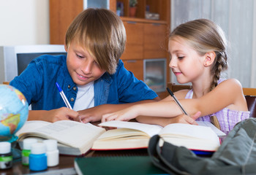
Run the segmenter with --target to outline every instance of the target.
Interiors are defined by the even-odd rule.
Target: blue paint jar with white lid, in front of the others
[[[31,145],[29,169],[31,171],[42,171],[47,169],[46,145],[44,143],[35,143]]]

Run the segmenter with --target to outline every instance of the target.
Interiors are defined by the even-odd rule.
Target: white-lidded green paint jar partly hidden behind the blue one
[[[23,140],[23,149],[21,152],[23,166],[29,166],[29,155],[31,152],[31,145],[34,143],[37,143],[37,139],[29,138]]]

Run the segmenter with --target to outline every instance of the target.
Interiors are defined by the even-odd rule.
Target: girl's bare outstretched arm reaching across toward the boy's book
[[[179,101],[189,115],[200,111],[200,116],[204,116],[218,112],[225,107],[240,111],[248,110],[241,84],[236,79],[225,80],[201,98],[180,99]],[[105,114],[102,117],[102,122],[108,120],[130,120],[139,115],[176,117],[181,114],[181,109],[174,101],[163,100],[155,103],[138,104],[119,112]]]

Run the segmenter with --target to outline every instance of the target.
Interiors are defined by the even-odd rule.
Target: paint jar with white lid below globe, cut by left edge
[[[0,142],[0,169],[12,168],[11,144],[8,141]]]

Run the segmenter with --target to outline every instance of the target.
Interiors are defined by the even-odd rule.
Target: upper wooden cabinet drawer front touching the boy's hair
[[[124,21],[127,44],[122,60],[143,59],[143,23]]]

